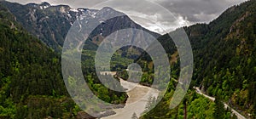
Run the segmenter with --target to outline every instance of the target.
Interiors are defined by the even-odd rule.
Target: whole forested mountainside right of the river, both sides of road
[[[183,118],[187,111],[188,118],[231,118],[229,111],[218,111],[220,107],[193,93],[193,87],[200,87],[203,93],[218,97],[233,109],[247,118],[256,117],[256,1],[250,0],[228,8],[216,20],[209,24],[196,24],[183,27],[189,36],[194,54],[194,74],[190,90],[183,103],[176,109],[168,109],[170,99],[179,76],[179,60],[177,48],[171,37],[164,35],[158,40],[166,49],[172,63],[173,81],[169,84],[169,92],[154,110],[143,118]],[[175,31],[173,31],[175,32]],[[172,34],[172,32],[171,32]],[[174,61],[173,61],[174,59]],[[137,59],[143,67],[142,84],[148,85],[154,77],[152,61],[148,54]],[[191,96],[193,95],[193,96]],[[199,105],[200,104],[200,105]],[[219,104],[219,103],[218,103]],[[201,110],[196,108],[201,106]],[[185,109],[186,107],[186,109]],[[204,111],[203,111],[204,110]],[[222,114],[217,114],[223,112]]]

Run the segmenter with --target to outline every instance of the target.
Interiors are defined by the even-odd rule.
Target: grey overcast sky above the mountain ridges
[[[181,26],[208,23],[226,8],[246,0],[7,0],[15,3],[67,4],[72,8],[108,6],[128,14],[151,31],[164,34]]]

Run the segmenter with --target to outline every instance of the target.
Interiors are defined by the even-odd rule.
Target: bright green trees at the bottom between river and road
[[[185,106],[187,106],[187,118],[206,118],[206,119],[219,119],[219,118],[235,118],[231,116],[229,110],[224,109],[224,104],[221,101],[213,102],[210,99],[205,98],[200,94],[196,94],[195,91],[190,91],[187,94],[186,98],[183,99],[183,104],[178,105],[175,109],[169,109],[170,99],[169,95],[166,94],[165,98],[160,101],[160,104],[149,111],[147,114],[144,114],[141,118],[184,118]],[[167,99],[166,99],[167,98]]]

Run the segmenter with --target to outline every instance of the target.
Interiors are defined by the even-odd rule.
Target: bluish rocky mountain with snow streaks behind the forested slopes
[[[102,8],[100,10],[89,8],[70,8],[67,5],[51,6],[49,3],[19,3],[1,2],[3,6],[15,15],[16,19],[27,31],[37,36],[50,48],[60,51],[67,32],[76,20],[79,20],[81,29],[87,27],[87,22],[97,22],[100,24],[90,35],[90,39],[102,39],[114,31],[124,28],[137,28],[147,31],[154,37],[159,34],[148,31],[142,26],[132,21],[127,15],[120,13],[113,8]],[[112,16],[119,15],[111,20]],[[105,21],[108,20],[108,21]],[[90,42],[94,48],[98,45]]]

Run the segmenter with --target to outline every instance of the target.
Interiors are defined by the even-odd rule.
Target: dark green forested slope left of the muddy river
[[[2,4],[0,32],[1,119],[94,118],[81,111],[67,93],[61,76],[61,55],[26,31]],[[86,74],[91,90],[100,99],[125,103],[125,93],[105,88],[90,71]],[[110,114],[113,112],[101,113]]]

